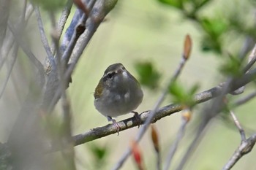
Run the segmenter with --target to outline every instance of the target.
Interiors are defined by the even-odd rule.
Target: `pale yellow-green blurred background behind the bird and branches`
[[[192,7],[188,5],[186,8],[189,10]],[[248,18],[253,18],[254,16],[253,9],[254,7],[249,3],[249,0],[215,0],[200,10],[198,15],[223,19],[231,16],[230,18],[237,22],[244,21],[244,28],[246,28],[247,25],[251,26],[254,23],[253,20],[248,20]],[[72,8],[73,12],[75,12],[75,7]],[[44,18],[44,22],[45,26],[50,28],[50,21],[47,18]],[[206,39],[204,39],[202,28],[195,21],[184,17],[180,10],[161,4],[157,0],[119,0],[105,22],[97,29],[89,46],[84,50],[75,73],[72,75],[72,84],[69,85],[67,91],[72,106],[73,134],[81,134],[91,128],[108,124],[106,117],[102,116],[94,108],[93,93],[103,72],[112,63],[123,63],[127,70],[137,78],[139,78],[139,75],[135,69],[136,64],[144,62],[153,64],[154,69],[161,74],[159,88],[151,90],[143,86],[143,103],[136,111],[143,112],[152,109],[162,92],[162,88],[165,87],[178,67],[183,50],[184,37],[187,34],[192,37],[192,55],[181,76],[178,77],[178,82],[187,89],[198,84],[200,85],[198,92],[200,92],[225,81],[225,77],[219,71],[220,66],[225,64],[225,54],[235,55],[239,53],[246,35],[238,34],[238,30],[233,31],[231,22],[223,21],[223,23],[227,26],[227,31],[218,40],[224,50],[221,53],[216,50],[203,52],[202,44],[206,42]],[[221,27],[222,23],[219,25]],[[31,23],[29,28],[33,30],[35,27],[37,27],[37,23],[34,20],[34,23]],[[50,34],[49,30],[47,32]],[[38,32],[34,34],[34,38],[39,39]],[[38,40],[37,43],[36,47],[34,47],[34,53],[40,56],[40,61],[43,62],[45,52],[40,46],[41,42]],[[203,45],[206,46],[206,44]],[[23,61],[23,56],[18,59],[18,62],[24,63],[24,67],[21,70],[25,70],[24,72],[26,73],[29,72],[29,69],[26,68],[28,64]],[[16,69],[16,72],[20,72],[20,69]],[[246,96],[254,88],[253,85],[247,85],[246,91],[241,96],[233,96],[232,100]],[[24,93],[23,96],[26,96],[26,90],[22,92]],[[7,88],[5,93],[9,94],[9,97],[5,98],[5,101],[1,101],[0,104],[1,108],[9,110],[8,112],[1,112],[1,116],[9,112],[18,112],[18,107],[10,109],[10,105],[9,107],[6,105],[10,103],[16,105],[14,103],[15,100],[12,100],[12,87]],[[23,96],[20,97],[22,98]],[[168,96],[162,106],[171,103],[172,99]],[[193,110],[192,120],[187,126],[187,132],[178,147],[170,169],[175,169],[178,166],[184,152],[187,151],[188,145],[194,139],[195,129],[200,122],[200,117],[202,117],[201,110],[207,104],[209,102],[199,104]],[[247,135],[252,133],[251,130],[255,131],[255,110],[255,100],[234,109],[238,120],[246,129]],[[61,104],[57,105],[55,113],[56,115],[61,115]],[[116,120],[123,120],[132,116],[132,114],[128,114],[117,117]],[[14,117],[11,117],[8,121],[0,119],[0,127],[3,129],[0,131],[0,141],[7,139],[8,131],[10,131],[10,127],[12,127],[12,123],[15,120]],[[176,113],[170,117],[165,117],[157,121],[155,125],[159,132],[162,161],[165,162],[167,151],[176,138],[176,133],[181,125],[181,115]],[[127,131],[121,131],[119,136],[113,134],[75,147],[78,169],[111,169],[124,153],[124,150],[129,147],[131,140],[138,134],[138,131],[138,128],[132,128]],[[185,166],[185,169],[222,169],[222,166],[227,163],[240,142],[240,134],[233,123],[226,123],[222,118],[217,117],[209,125],[202,142],[200,142],[197,150],[193,152],[192,158]],[[147,132],[144,136],[140,142],[140,147],[143,152],[146,169],[155,169],[156,155],[151,144],[150,133]],[[252,150],[244,158],[241,158],[233,169],[254,170],[256,167],[255,156],[256,151]],[[122,169],[136,169],[132,158],[129,158]]]

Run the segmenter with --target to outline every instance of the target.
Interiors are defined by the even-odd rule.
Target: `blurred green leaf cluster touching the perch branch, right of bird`
[[[195,105],[194,95],[199,89],[199,85],[193,85],[192,88],[184,88],[181,83],[173,82],[169,87],[169,93],[173,97],[173,102],[183,104],[186,107]]]

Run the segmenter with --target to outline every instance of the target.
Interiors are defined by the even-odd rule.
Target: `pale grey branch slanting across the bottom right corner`
[[[251,152],[252,148],[254,147],[256,142],[256,134],[253,134],[245,141],[242,141],[240,146],[236,149],[230,160],[227,164],[223,167],[222,170],[231,169],[244,155],[248,152]]]

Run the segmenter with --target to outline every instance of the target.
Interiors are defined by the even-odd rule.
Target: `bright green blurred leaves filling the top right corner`
[[[216,5],[214,5],[213,0],[158,1],[168,7],[178,9],[185,18],[194,21],[196,26],[200,28],[202,34],[201,49],[203,51],[223,54],[227,49],[227,47],[225,47],[226,40],[230,41],[227,36],[233,32],[240,34],[240,36],[251,36],[253,39],[256,39],[254,31],[255,23],[253,23],[254,18],[252,18],[252,15],[248,18],[244,12],[247,10],[246,8],[253,7],[252,5],[255,4],[254,1],[246,1],[248,2],[246,7],[239,6],[239,4],[237,4],[238,1],[235,1],[233,4],[230,4],[230,7],[223,8],[225,11],[219,12],[218,8],[213,17],[203,15],[203,12],[206,10],[214,10]],[[233,36],[232,40],[236,39],[237,36]],[[233,42],[232,40],[227,42],[227,46]],[[232,53],[234,53],[234,51],[232,51]]]

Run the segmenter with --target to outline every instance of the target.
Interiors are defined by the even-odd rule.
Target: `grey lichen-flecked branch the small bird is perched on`
[[[227,90],[226,93],[230,93],[230,91],[236,90],[237,88],[240,88],[241,86],[246,85],[247,83],[255,79],[255,77],[256,77],[256,69],[252,70],[248,74],[245,74],[239,80],[235,80],[233,85],[230,87],[229,90]],[[215,98],[222,93],[222,90],[223,90],[222,86],[217,86],[209,90],[203,91],[202,93],[197,93],[197,95],[195,95],[195,103],[200,104],[200,103],[203,103],[204,101],[208,101],[212,98]],[[162,107],[157,110],[157,113],[156,115],[154,115],[153,119],[151,120],[151,123],[155,123],[157,122],[157,120],[160,120],[163,117],[173,115],[174,113],[181,111],[181,109],[183,109],[183,106],[181,104],[170,104],[165,107]],[[150,111],[141,113],[140,114],[141,123],[135,117],[131,117],[126,120],[122,120],[118,122],[120,131],[124,131],[128,128],[142,125],[149,115],[150,115]],[[76,146],[76,145],[90,142],[95,139],[99,139],[115,133],[116,133],[115,125],[108,124],[102,127],[92,128],[91,130],[83,134],[75,135],[73,136],[73,141]],[[59,148],[51,148],[51,150],[59,150]]]

